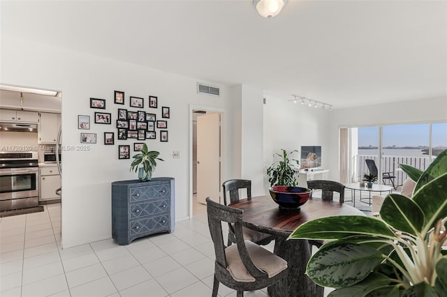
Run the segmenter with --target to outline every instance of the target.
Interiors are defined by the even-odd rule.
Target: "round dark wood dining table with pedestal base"
[[[244,211],[242,224],[245,227],[274,235],[274,254],[287,261],[287,287],[280,287],[279,283],[268,287],[269,295],[274,297],[323,296],[323,289],[305,275],[307,261],[311,257],[309,241],[288,240],[288,236],[297,227],[310,220],[332,215],[365,215],[357,208],[339,201],[323,201],[316,198],[309,199],[298,210],[279,208],[270,195],[240,199],[230,203],[229,206]]]

